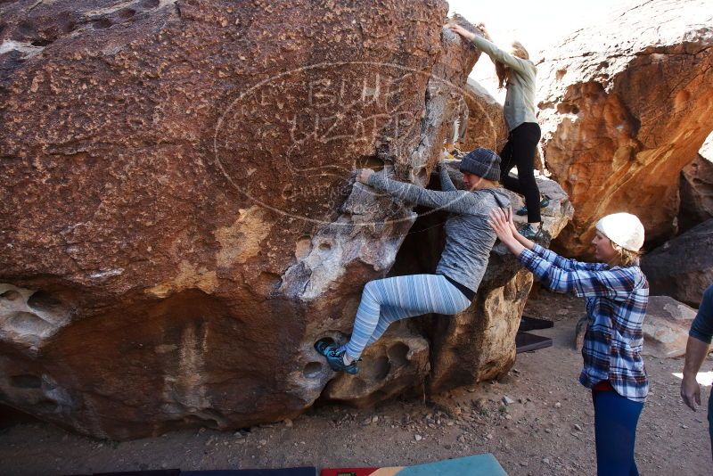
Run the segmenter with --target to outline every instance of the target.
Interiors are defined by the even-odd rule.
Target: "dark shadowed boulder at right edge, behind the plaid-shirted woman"
[[[643,274],[652,294],[670,296],[698,308],[713,283],[713,219],[643,256]]]

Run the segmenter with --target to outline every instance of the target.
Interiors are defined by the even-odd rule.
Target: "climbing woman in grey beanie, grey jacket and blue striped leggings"
[[[463,157],[460,170],[467,191],[455,188],[442,164],[438,164],[441,191],[390,180],[370,168],[358,172],[356,180],[362,184],[410,203],[450,212],[444,226],[446,247],[435,275],[396,276],[366,283],[350,341],[340,347],[326,339],[315,344],[333,370],[356,373],[362,351],[394,321],[428,313],[454,315],[471,304],[496,242],[488,214],[510,200],[497,182],[500,157],[496,152],[475,149]]]

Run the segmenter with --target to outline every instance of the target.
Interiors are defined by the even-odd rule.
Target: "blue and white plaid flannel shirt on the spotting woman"
[[[579,382],[591,389],[609,380],[622,397],[643,402],[649,392],[641,357],[649,283],[641,268],[564,259],[537,244],[520,253],[520,263],[547,289],[586,298],[589,325]]]

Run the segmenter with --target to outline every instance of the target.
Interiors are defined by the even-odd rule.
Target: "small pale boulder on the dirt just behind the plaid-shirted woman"
[[[681,357],[685,355],[688,330],[696,310],[668,296],[651,296],[643,319],[643,355]]]

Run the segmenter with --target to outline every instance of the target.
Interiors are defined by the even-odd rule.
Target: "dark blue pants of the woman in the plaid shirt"
[[[598,476],[638,476],[634,461],[636,423],[643,402],[613,390],[592,390]]]

